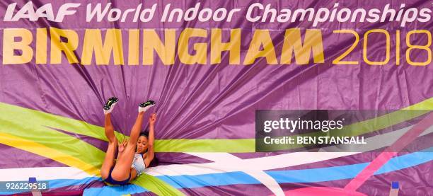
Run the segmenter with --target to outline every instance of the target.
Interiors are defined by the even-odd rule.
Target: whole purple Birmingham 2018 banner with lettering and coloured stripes
[[[433,190],[431,124],[408,153],[374,161],[433,110],[429,1],[2,1],[0,20],[0,181],[35,177],[54,195]],[[139,103],[158,115],[159,163],[122,188],[100,182],[112,96],[118,138]],[[347,122],[387,139],[256,153],[256,110],[389,111]]]

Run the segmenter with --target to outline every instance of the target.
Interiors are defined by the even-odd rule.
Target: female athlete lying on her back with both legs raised
[[[112,185],[125,185],[138,175],[143,173],[144,168],[154,159],[154,124],[156,114],[149,117],[149,134],[140,134],[144,112],[155,105],[153,100],[139,104],[139,113],[134,126],[131,129],[129,140],[117,142],[114,127],[111,124],[110,113],[118,99],[109,98],[104,106],[105,114],[105,136],[108,138],[108,149],[105,159],[100,168],[100,175],[106,183]],[[115,161],[116,149],[117,161]]]

